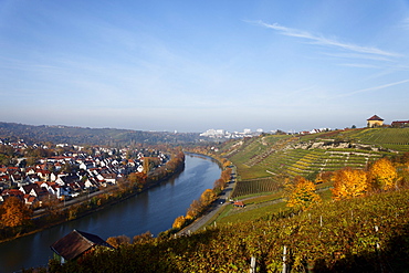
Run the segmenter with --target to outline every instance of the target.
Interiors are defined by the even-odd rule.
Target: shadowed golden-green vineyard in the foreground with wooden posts
[[[96,251],[48,272],[405,272],[409,190]],[[44,270],[45,272],[45,270]]]

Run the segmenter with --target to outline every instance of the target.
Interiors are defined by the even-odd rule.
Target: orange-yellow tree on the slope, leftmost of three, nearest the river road
[[[322,202],[321,197],[315,193],[315,185],[303,177],[296,177],[293,183],[287,182],[286,187],[289,191],[287,207],[306,210]]]

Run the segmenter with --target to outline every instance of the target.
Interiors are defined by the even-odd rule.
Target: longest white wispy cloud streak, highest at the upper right
[[[247,22],[275,30],[282,35],[308,40],[314,44],[331,46],[331,48],[349,51],[354,53],[364,53],[364,54],[373,54],[373,55],[380,55],[380,56],[399,56],[399,54],[394,53],[394,52],[384,51],[377,48],[361,46],[361,45],[357,45],[353,43],[344,43],[335,39],[328,39],[323,35],[316,35],[316,34],[310,33],[307,31],[287,28],[279,23],[269,24],[263,21],[247,21]]]

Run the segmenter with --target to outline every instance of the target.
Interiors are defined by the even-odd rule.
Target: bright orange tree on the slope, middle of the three
[[[369,189],[365,170],[343,168],[334,175],[334,188],[331,189],[336,200],[363,196]]]

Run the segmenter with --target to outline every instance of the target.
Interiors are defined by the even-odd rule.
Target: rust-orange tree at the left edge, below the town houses
[[[1,206],[1,223],[4,227],[15,228],[30,222],[32,210],[17,197],[9,197]]]

